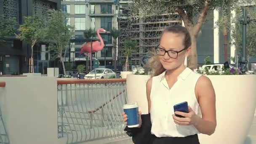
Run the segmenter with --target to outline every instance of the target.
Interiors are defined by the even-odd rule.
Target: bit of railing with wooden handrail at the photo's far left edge
[[[0,82],[0,88],[5,87],[5,82]],[[9,144],[9,136],[6,131],[5,123],[3,121],[3,112],[0,105],[0,144]]]

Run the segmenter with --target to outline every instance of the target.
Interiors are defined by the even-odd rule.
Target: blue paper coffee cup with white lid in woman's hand
[[[128,128],[135,128],[139,126],[139,107],[135,104],[125,104],[123,111],[128,117],[127,126]]]

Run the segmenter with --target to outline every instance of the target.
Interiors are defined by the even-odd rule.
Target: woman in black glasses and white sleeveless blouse
[[[153,75],[147,82],[152,144],[199,144],[197,133],[211,135],[216,128],[215,92],[208,77],[184,65],[191,51],[188,30],[166,27],[155,51],[157,55],[149,61]],[[173,105],[184,101],[189,113],[174,113]],[[127,118],[123,113],[125,123]],[[143,123],[140,119],[139,128]]]

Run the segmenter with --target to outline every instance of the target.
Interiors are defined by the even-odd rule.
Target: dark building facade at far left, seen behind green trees
[[[22,24],[24,16],[43,14],[48,9],[59,9],[60,6],[60,0],[0,0],[0,14],[15,17]],[[49,61],[45,45],[38,44],[34,51],[35,72],[46,74]],[[14,35],[8,37],[7,42],[0,45],[0,72],[6,75],[27,73],[30,56],[29,44],[16,39]]]

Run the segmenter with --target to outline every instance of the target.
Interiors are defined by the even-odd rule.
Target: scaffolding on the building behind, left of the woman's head
[[[127,10],[123,10],[123,12]],[[181,25],[182,20],[178,13],[161,14],[144,19],[128,19],[127,13],[120,13],[118,18],[121,35],[119,37],[119,64],[125,61],[123,43],[127,39],[136,40],[138,46],[132,53],[130,64],[140,65],[143,56],[153,51],[159,43],[163,29],[171,25]]]

